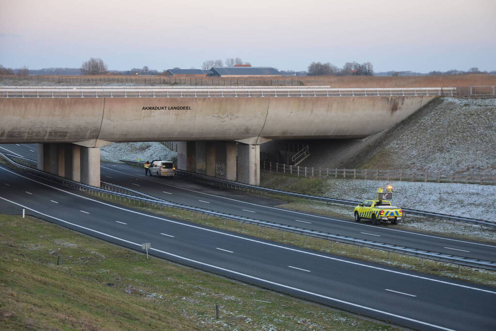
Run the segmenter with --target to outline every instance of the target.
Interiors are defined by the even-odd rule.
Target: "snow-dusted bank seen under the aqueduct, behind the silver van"
[[[103,162],[118,163],[119,160],[166,160],[177,159],[173,152],[158,142],[114,143],[101,148],[100,158]]]

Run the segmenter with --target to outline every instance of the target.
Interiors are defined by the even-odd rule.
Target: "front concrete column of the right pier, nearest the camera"
[[[260,185],[260,145],[238,144],[238,181]]]

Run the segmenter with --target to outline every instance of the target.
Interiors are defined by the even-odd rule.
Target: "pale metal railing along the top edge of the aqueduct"
[[[0,89],[0,98],[238,98],[454,96],[456,88]]]

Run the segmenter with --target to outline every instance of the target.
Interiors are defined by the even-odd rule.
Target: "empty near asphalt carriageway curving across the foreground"
[[[494,330],[494,288],[323,254],[83,196],[0,165],[0,208],[216,274],[421,330]],[[270,309],[270,307],[267,307]]]

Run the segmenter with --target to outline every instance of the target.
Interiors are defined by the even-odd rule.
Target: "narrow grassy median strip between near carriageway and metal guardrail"
[[[98,197],[98,195],[96,195]],[[232,232],[242,233],[257,238],[272,240],[293,246],[317,250],[324,253],[345,256],[358,260],[379,263],[387,266],[398,267],[405,270],[431,274],[436,276],[445,276],[453,279],[466,280],[474,283],[496,286],[496,272],[461,267],[458,273],[458,266],[407,256],[397,253],[390,253],[344,243],[330,243],[328,240],[307,237],[305,235],[290,233],[270,228],[263,228],[257,225],[244,224],[237,221],[224,220],[214,217],[204,216],[202,214],[193,214],[191,212],[177,210],[173,208],[159,209],[156,206],[145,205],[134,202],[119,201],[119,198],[110,198],[107,196],[99,199],[111,201],[129,208],[139,209],[149,213],[154,213],[169,218],[176,218],[184,221],[190,221],[206,226],[224,229]]]

